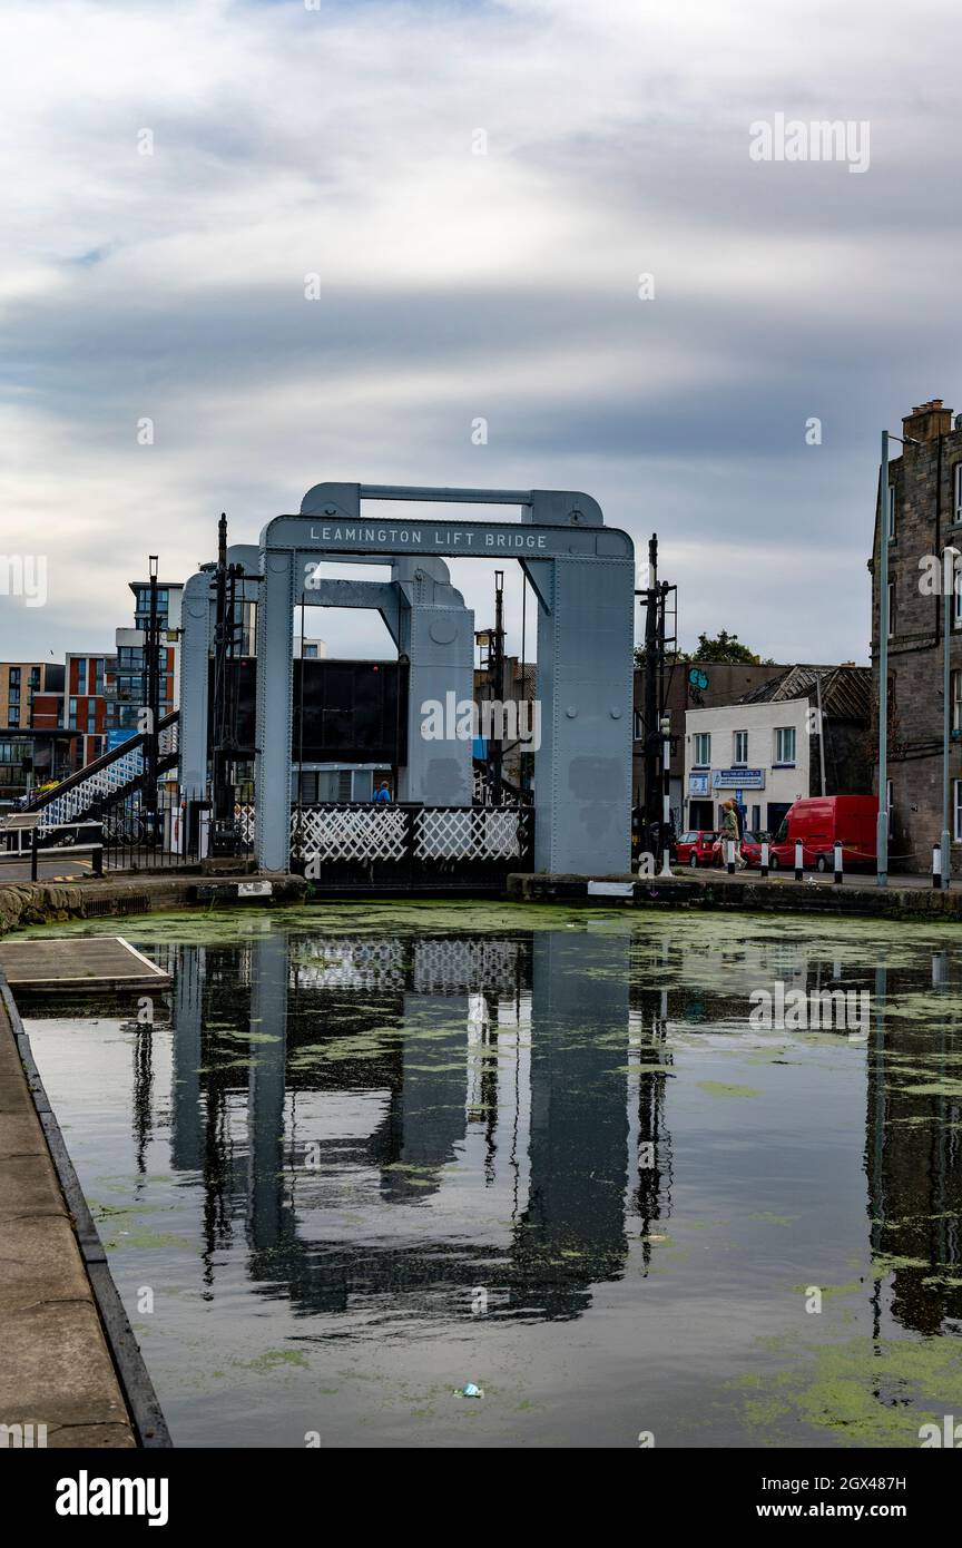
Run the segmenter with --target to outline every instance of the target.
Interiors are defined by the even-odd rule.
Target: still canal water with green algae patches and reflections
[[[122,930],[169,995],[26,1025],[176,1444],[962,1421],[951,926],[414,902]]]

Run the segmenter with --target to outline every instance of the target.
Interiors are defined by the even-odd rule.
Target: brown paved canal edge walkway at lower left
[[[8,1426],[8,1446],[170,1446],[104,1245],[2,978],[0,1426]],[[12,1426],[23,1430],[11,1433]]]

